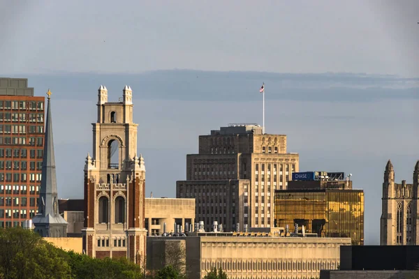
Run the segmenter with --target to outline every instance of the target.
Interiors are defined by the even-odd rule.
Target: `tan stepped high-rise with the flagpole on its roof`
[[[186,156],[186,181],[176,197],[196,199],[196,222],[225,231],[273,227],[274,191],[298,172],[286,135],[263,134],[256,124],[230,124],[199,136],[199,153]],[[238,227],[237,227],[238,225]]]

